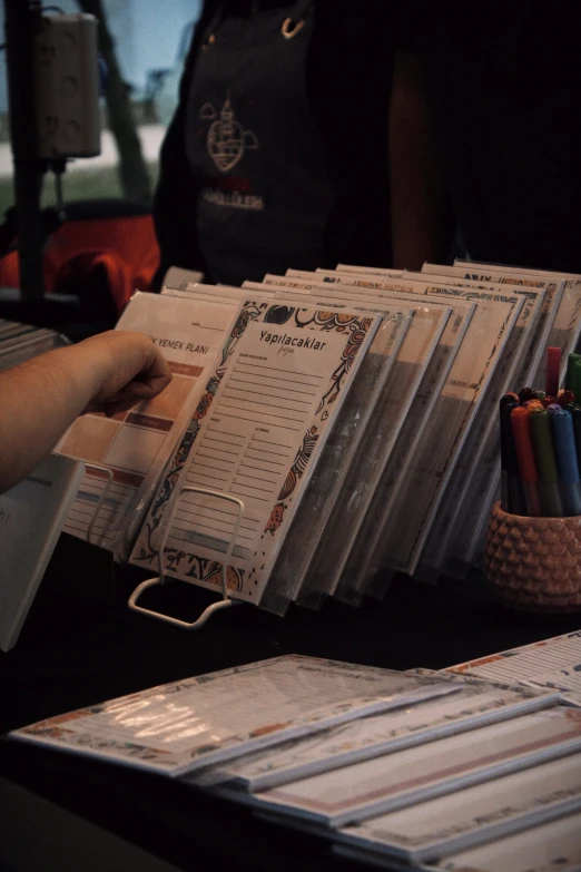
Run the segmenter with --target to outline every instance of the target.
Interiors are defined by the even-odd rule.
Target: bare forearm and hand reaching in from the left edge
[[[125,331],[0,372],[0,492],[26,478],[82,412],[116,414],[152,399],[170,381],[159,349]]]

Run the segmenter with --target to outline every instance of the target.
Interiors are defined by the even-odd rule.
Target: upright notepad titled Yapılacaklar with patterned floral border
[[[233,598],[259,602],[381,315],[247,303],[164,471],[131,562],[216,589],[236,510],[204,487],[243,500],[228,558]],[[160,555],[173,501],[175,520]]]

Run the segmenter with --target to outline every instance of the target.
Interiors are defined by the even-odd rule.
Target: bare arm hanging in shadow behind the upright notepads
[[[433,141],[420,60],[395,56],[390,104],[390,185],[393,265],[421,270],[446,261],[454,219]]]

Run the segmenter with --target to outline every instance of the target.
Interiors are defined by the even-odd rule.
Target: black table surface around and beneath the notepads
[[[127,608],[128,595],[142,579],[140,570],[114,568],[107,553],[61,537],[16,647],[0,655],[1,733],[282,654],[439,669],[581,624],[580,616],[509,611],[473,572],[436,587],[397,576],[383,601],[366,599],[358,609],[328,600],[321,611],[292,607],[279,618],[240,606],[185,633]],[[161,596],[169,610],[188,620],[215,599],[184,585],[166,587]],[[265,823],[167,777],[10,741],[0,741],[0,776],[178,869],[214,868],[221,860],[229,869],[296,870],[307,856],[319,870],[349,868],[316,836]]]

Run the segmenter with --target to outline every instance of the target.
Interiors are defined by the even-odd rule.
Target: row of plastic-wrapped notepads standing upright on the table
[[[171,287],[179,284],[179,287]],[[85,415],[66,529],[150,576],[284,614],[477,564],[500,481],[498,401],[581,332],[581,277],[457,263],[136,293],[174,381]]]

